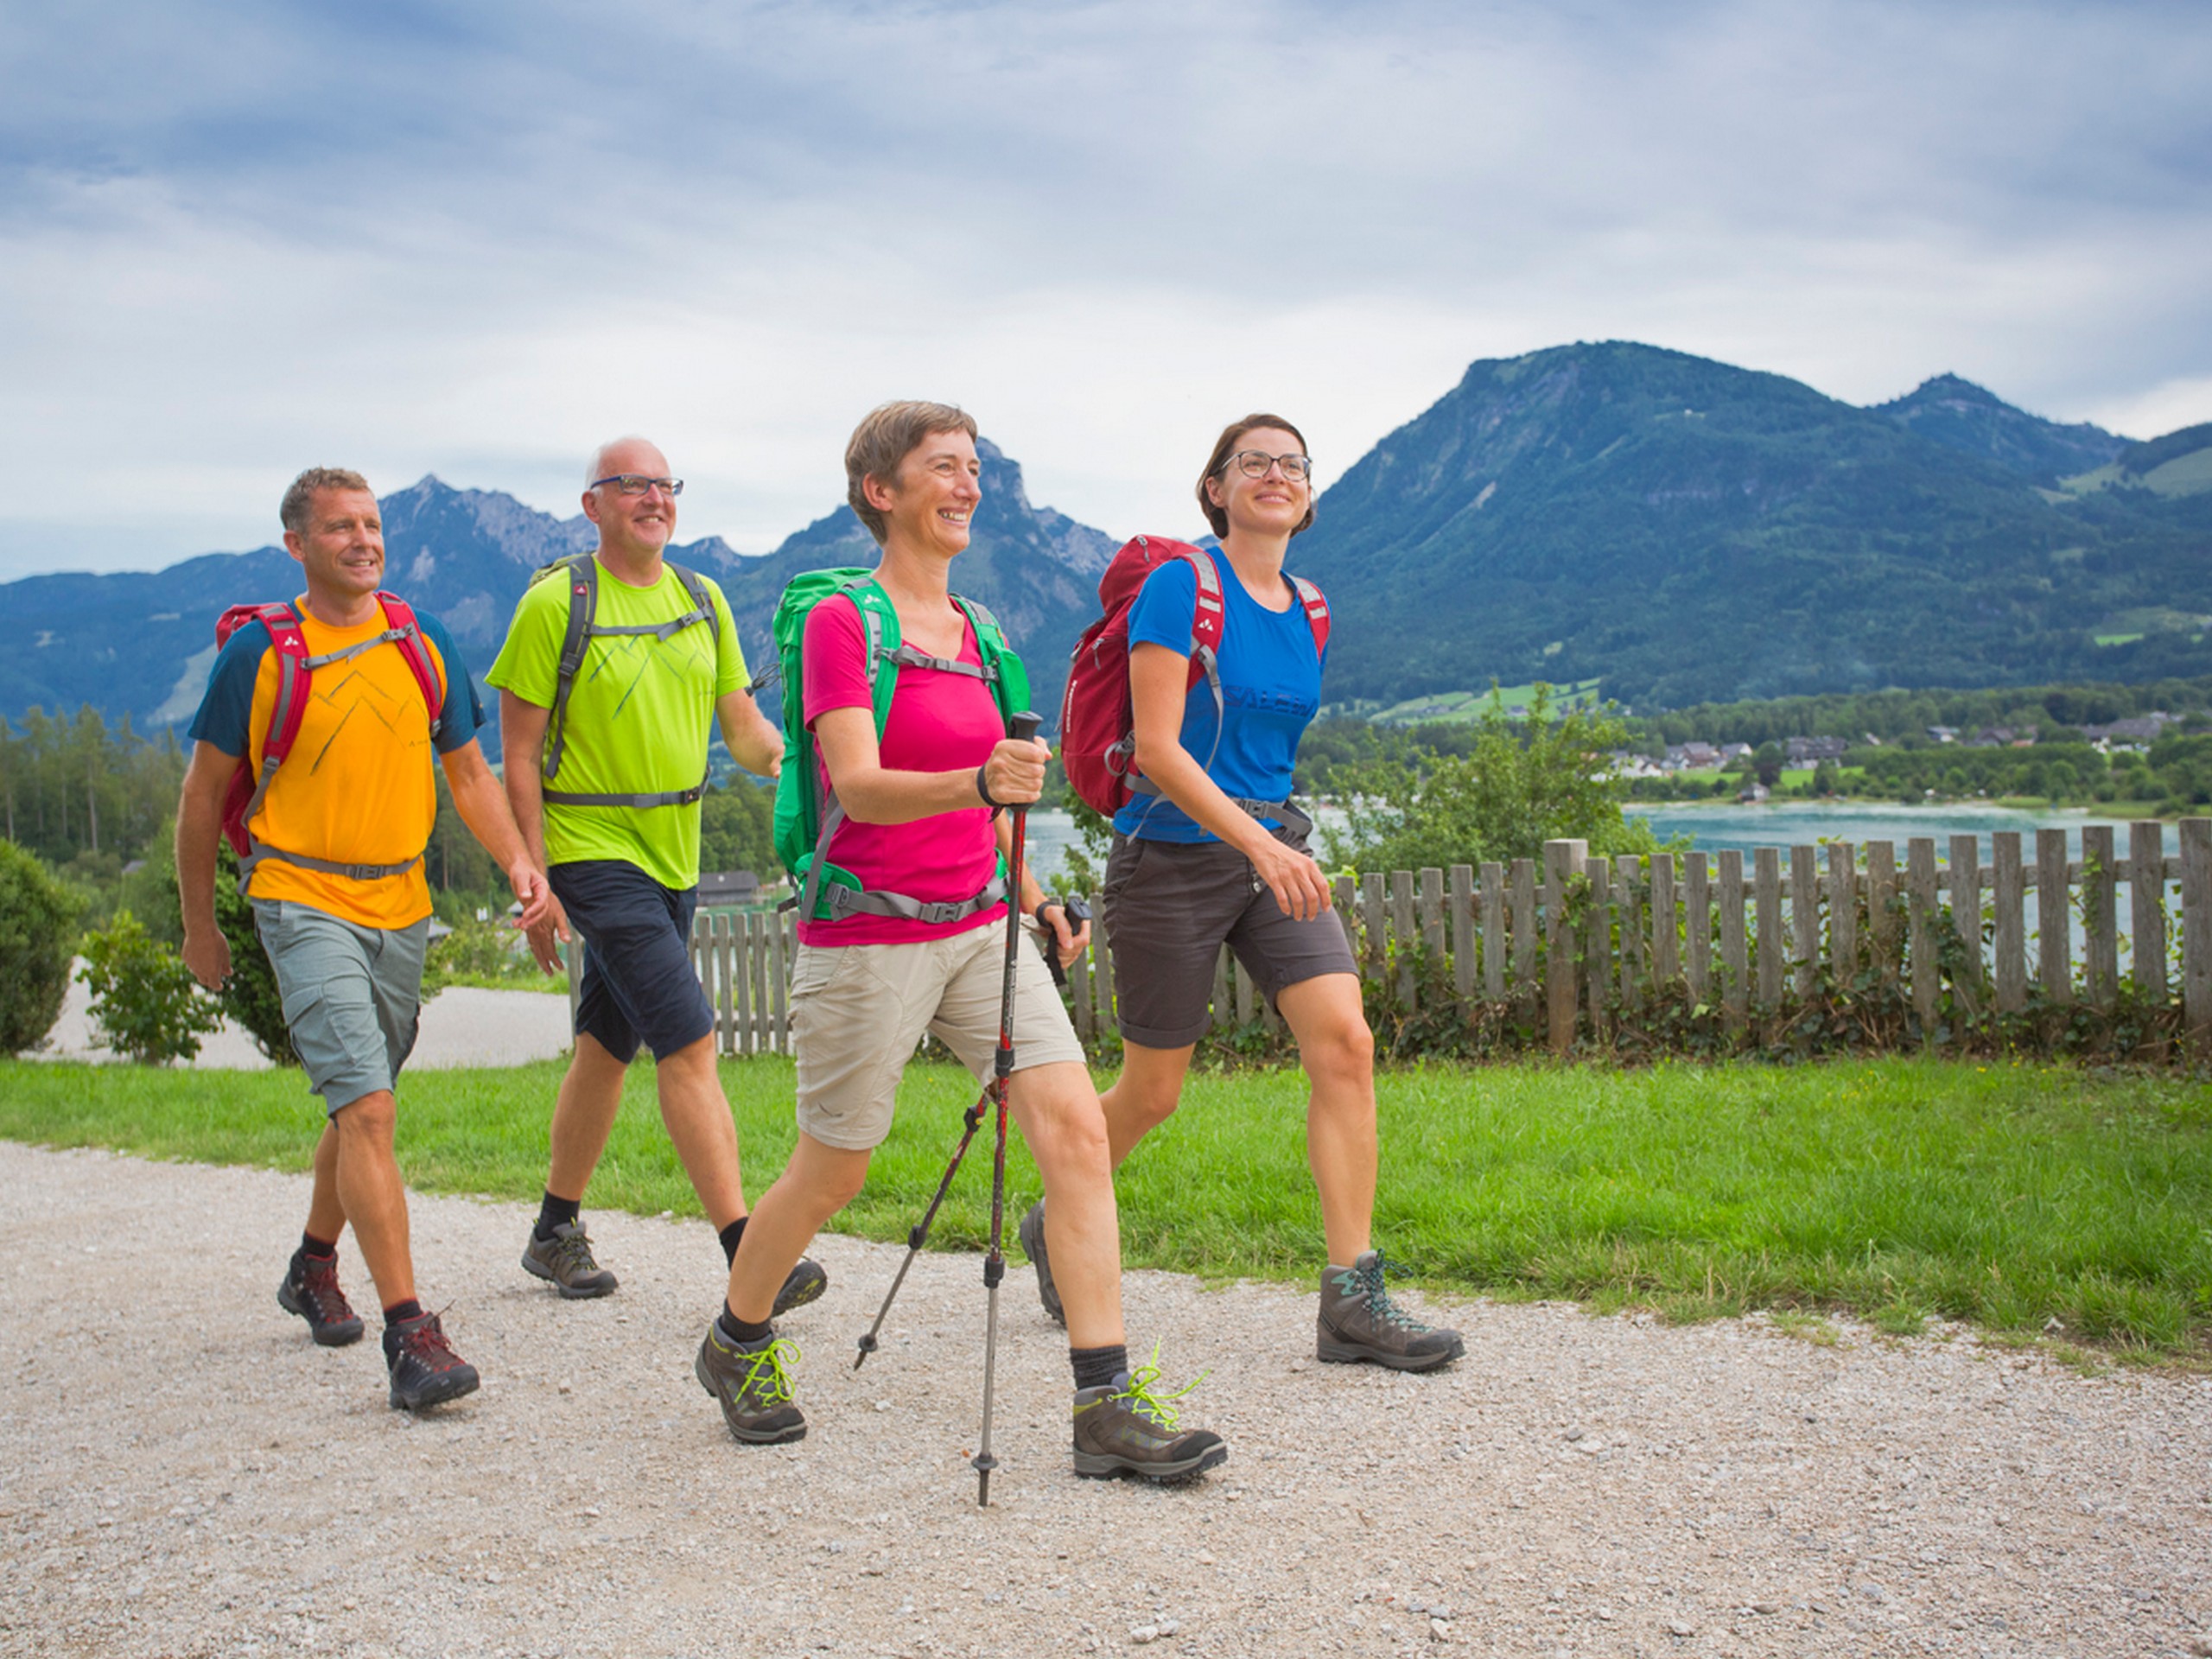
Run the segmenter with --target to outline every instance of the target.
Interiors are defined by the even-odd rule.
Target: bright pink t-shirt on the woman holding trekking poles
[[[807,617],[803,708],[807,726],[832,708],[865,708],[876,699],[867,686],[867,635],[852,599],[832,595]],[[982,668],[975,630],[962,622],[960,661]],[[998,699],[980,679],[929,668],[900,668],[891,695],[891,717],[883,728],[880,757],[891,772],[973,772],[1006,737]],[[821,768],[823,790],[830,768]],[[830,838],[830,863],[849,869],[869,891],[894,891],[927,902],[973,898],[998,872],[998,838],[989,807],[940,812],[914,823],[854,823],[847,818]],[[1004,920],[993,905],[958,922],[909,922],[896,916],[847,916],[841,922],[799,922],[801,945],[907,945],[949,938]]]

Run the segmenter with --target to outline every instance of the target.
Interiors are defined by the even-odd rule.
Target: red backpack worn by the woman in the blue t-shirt
[[[1135,794],[1137,737],[1128,703],[1128,611],[1137,591],[1168,560],[1183,560],[1199,580],[1190,615],[1190,681],[1203,679],[1214,692],[1214,741],[1221,741],[1221,571],[1212,555],[1190,542],[1137,535],[1113,555],[1099,577],[1106,615],[1084,628],[1068,661],[1068,690],[1060,701],[1060,763],[1086,805],[1108,818]],[[1314,653],[1329,644],[1329,602],[1305,577],[1290,577],[1314,628]],[[1212,765],[1212,757],[1206,761]]]

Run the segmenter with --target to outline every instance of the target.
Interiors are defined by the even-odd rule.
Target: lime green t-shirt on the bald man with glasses
[[[560,776],[551,787],[577,794],[655,794],[688,790],[706,776],[714,701],[750,686],[737,648],[730,602],[710,577],[717,637],[695,624],[661,641],[653,635],[593,639],[568,688]],[[522,595],[500,659],[484,681],[526,703],[553,708],[560,646],[568,635],[568,588],[549,575]],[[677,573],[661,566],[650,588],[633,588],[599,564],[602,628],[668,622],[690,611]],[[551,739],[551,732],[549,732]],[[551,748],[551,743],[549,743]],[[699,885],[699,805],[577,807],[546,803],[546,863],[622,858],[664,887]]]

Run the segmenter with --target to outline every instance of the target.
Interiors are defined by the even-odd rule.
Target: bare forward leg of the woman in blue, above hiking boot
[[[1376,1040],[1352,973],[1301,980],[1276,998],[1314,1084],[1305,1157],[1321,1190],[1329,1261],[1349,1267],[1369,1245],[1376,1210]]]

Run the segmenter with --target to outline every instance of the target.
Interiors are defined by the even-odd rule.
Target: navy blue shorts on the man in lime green
[[[690,1048],[714,1031],[714,1009],[690,958],[690,918],[699,889],[661,887],[622,858],[553,865],[553,896],[584,940],[577,1035],[591,1035],[628,1066],[637,1046],[655,1060]]]

